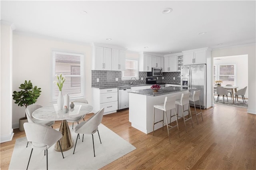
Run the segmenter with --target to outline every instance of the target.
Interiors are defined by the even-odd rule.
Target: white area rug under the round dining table
[[[80,134],[80,139],[78,138],[76,144],[75,154],[73,154],[77,134],[71,127],[70,131],[73,136],[74,146],[70,150],[63,152],[64,159],[62,158],[61,152],[56,152],[54,150],[54,146],[49,148],[48,169],[99,169],[136,149],[132,144],[104,125],[100,124],[98,130],[102,144],[100,144],[100,139],[96,132],[94,134],[95,157],[93,154],[92,135],[84,135],[84,142],[82,142],[82,134]],[[26,137],[16,140],[9,166],[10,170],[26,169],[31,152],[31,145],[28,144],[28,147],[26,148],[26,144]],[[44,156],[44,150],[33,150],[28,169],[46,169],[46,156]]]

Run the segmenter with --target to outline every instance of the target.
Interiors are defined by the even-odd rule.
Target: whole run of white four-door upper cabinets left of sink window
[[[110,45],[94,45],[92,70],[124,71],[125,50],[125,48]]]

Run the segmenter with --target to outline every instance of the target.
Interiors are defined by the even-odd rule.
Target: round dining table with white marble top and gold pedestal
[[[70,134],[70,128],[68,127],[68,122],[66,120],[86,115],[93,109],[93,107],[87,103],[74,102],[74,105],[74,108],[69,109],[68,113],[63,113],[63,110],[58,110],[57,104],[41,107],[32,113],[32,117],[38,120],[62,121],[59,129],[59,131],[62,132],[62,138],[60,139],[62,151],[69,150],[74,145],[74,140]],[[56,142],[55,150],[58,152],[61,151],[58,142]]]

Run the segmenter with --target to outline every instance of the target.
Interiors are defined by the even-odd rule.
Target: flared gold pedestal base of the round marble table
[[[62,148],[62,151],[69,150],[74,145],[73,138],[70,134],[70,129],[68,127],[68,122],[66,120],[63,120],[60,125],[60,132],[62,132],[62,138],[60,138],[60,145],[58,142],[55,144],[55,150],[57,152],[60,152],[60,146]]]

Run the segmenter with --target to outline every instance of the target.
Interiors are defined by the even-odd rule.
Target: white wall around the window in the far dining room
[[[217,60],[215,60],[218,58]],[[215,57],[214,65],[222,64],[235,64],[236,65],[236,86],[238,89],[242,89],[248,86],[248,56],[247,55],[237,55],[230,57]],[[248,89],[244,95],[245,98],[248,98]]]

